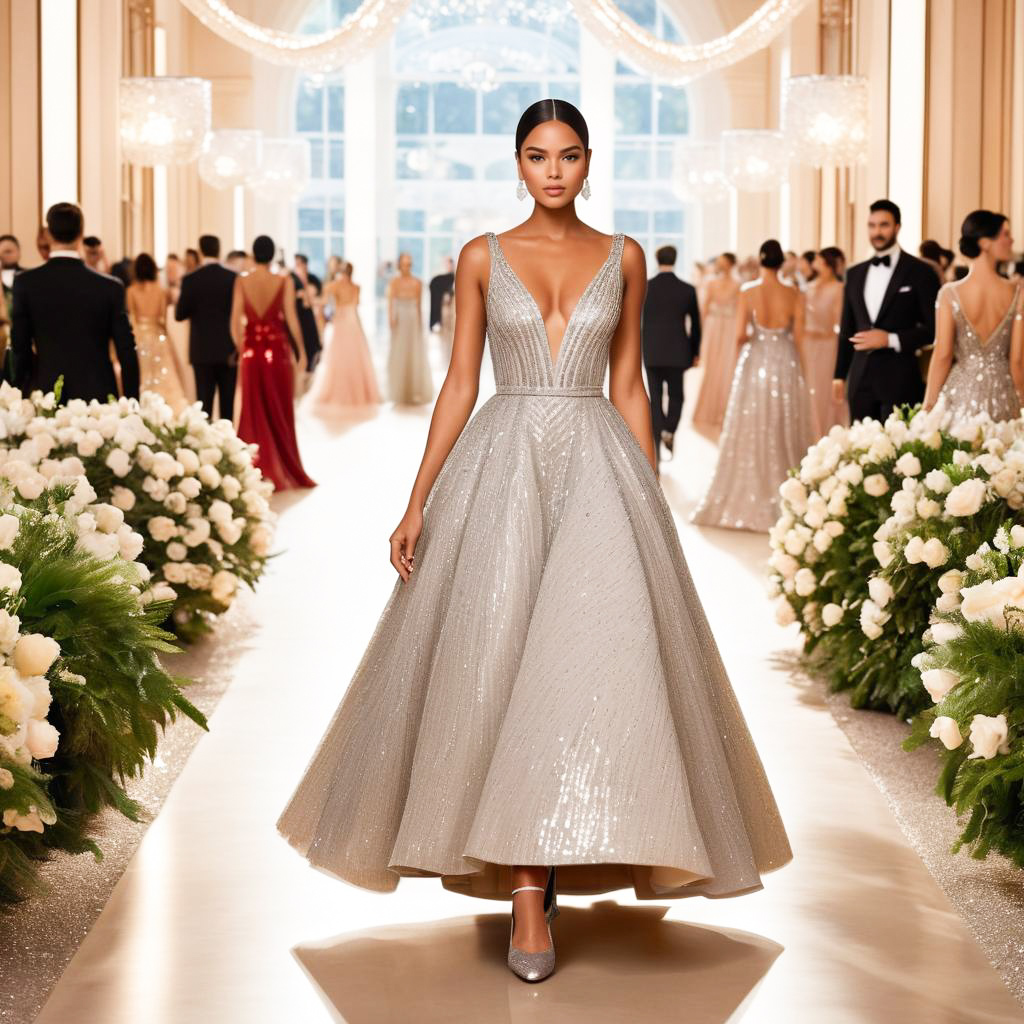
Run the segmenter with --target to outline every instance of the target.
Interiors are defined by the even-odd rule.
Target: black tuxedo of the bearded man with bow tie
[[[935,340],[935,297],[939,280],[924,260],[900,251],[879,314],[873,323],[864,303],[870,260],[850,267],[843,291],[836,378],[849,378],[851,399],[869,393],[894,406],[921,401],[925,394],[918,353]],[[874,348],[858,352],[850,339],[858,331],[878,328],[899,337],[900,350]]]

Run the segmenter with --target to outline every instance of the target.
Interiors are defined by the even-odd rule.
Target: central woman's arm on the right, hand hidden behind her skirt
[[[643,348],[640,314],[647,294],[647,267],[643,250],[631,238],[623,248],[623,310],[611,339],[608,397],[643,449],[651,469],[657,472],[654,432],[650,423],[650,399],[643,386]],[[458,303],[458,297],[456,302]]]

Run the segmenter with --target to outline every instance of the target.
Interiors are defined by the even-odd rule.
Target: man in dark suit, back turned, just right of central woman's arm
[[[643,364],[650,393],[650,419],[658,459],[662,444],[672,454],[676,428],[683,415],[683,374],[700,354],[700,310],[692,285],[680,281],[675,246],[655,253],[657,273],[647,282],[643,304]],[[664,390],[669,391],[665,412]]]

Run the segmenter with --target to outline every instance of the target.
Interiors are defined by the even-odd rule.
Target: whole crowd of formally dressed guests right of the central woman
[[[942,403],[954,419],[1015,419],[1024,404],[1024,261],[1008,218],[976,210],[959,259],[934,241],[898,242],[899,207],[870,207],[873,255],[847,266],[835,247],[801,255],[767,241],[754,259],[697,265],[696,286],[658,251],[644,307],[644,362],[655,441],[671,457],[683,375],[702,368],[695,428],[719,440],[694,520],[768,529],[777,489],[836,425]],[[666,392],[668,406],[666,407]]]

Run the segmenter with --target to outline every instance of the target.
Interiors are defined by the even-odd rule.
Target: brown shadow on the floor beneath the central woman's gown
[[[506,967],[507,913],[375,928],[293,952],[346,1024],[724,1024],[782,946],[666,921],[667,910],[562,906],[552,926],[558,964],[540,983]]]

